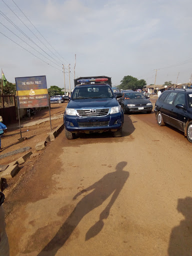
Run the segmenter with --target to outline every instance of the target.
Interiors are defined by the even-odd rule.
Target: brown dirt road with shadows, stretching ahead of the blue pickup
[[[62,132],[6,198],[10,255],[192,255],[191,151],[154,114],[120,138]]]

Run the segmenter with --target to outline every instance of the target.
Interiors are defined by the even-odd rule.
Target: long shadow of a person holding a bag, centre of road
[[[107,173],[100,180],[81,190],[73,197],[73,200],[75,200],[82,193],[87,193],[88,191],[92,190],[90,193],[86,194],[82,199],[80,199],[74,210],[67,217],[54,237],[48,242],[47,245],[44,246],[37,256],[54,256],[57,250],[62,247],[69,238],[80,220],[88,212],[100,206],[112,194],[109,203],[100,213],[98,221],[86,232],[85,240],[94,237],[101,231],[104,225],[103,219],[108,217],[112,204],[118,197],[119,192],[129,176],[129,172],[123,170],[126,164],[127,162],[125,161],[119,162],[116,165],[116,171]]]

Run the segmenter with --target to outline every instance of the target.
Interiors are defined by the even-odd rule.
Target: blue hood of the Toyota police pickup
[[[92,107],[111,107],[118,106],[116,98],[85,98],[85,99],[71,99],[68,108],[92,108]]]

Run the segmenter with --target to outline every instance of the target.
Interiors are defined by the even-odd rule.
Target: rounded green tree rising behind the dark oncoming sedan
[[[131,75],[126,75],[120,81],[119,89],[142,89],[146,85],[146,81],[144,79],[138,80],[136,77]]]

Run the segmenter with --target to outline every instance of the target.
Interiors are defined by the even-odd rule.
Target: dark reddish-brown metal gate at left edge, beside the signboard
[[[0,95],[0,115],[5,125],[16,121],[15,95]]]

